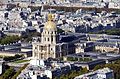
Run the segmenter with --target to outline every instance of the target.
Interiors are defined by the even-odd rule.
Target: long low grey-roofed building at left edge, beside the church
[[[28,43],[29,44],[29,43]],[[1,56],[15,56],[16,54],[24,55],[24,57],[32,56],[32,46],[22,45],[21,43],[11,43],[7,45],[0,45],[0,55]]]

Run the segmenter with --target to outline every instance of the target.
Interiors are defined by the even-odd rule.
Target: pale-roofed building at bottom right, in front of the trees
[[[78,77],[75,77],[74,79],[114,79],[114,73],[113,70],[109,68],[103,68],[80,75]]]

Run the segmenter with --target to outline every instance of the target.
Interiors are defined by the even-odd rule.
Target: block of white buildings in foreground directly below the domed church
[[[78,68],[67,62],[33,59],[17,79],[54,79]]]

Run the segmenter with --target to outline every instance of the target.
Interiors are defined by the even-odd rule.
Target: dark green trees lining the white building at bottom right
[[[109,64],[97,65],[93,70],[95,71],[105,67],[108,67],[113,70],[115,79],[120,79],[120,60],[117,60]],[[79,76],[88,72],[89,71],[87,70],[87,68],[82,68],[79,71],[73,70],[73,71],[70,71],[68,74],[63,74],[59,78],[55,77],[54,79],[74,79],[76,76]]]

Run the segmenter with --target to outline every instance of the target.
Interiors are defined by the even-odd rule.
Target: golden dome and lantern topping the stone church
[[[45,23],[45,29],[56,29],[56,24],[52,21],[53,16],[52,14],[48,14],[48,21]]]

